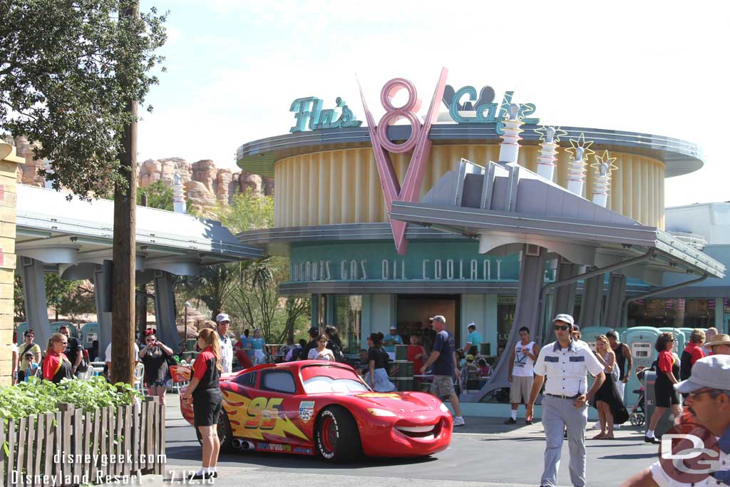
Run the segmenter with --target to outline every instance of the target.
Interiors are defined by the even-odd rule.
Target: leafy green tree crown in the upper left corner
[[[80,197],[126,186],[119,172],[130,100],[144,103],[163,58],[165,15],[120,17],[131,0],[7,0],[0,8],[0,128],[25,136]],[[124,83],[120,83],[124,80]],[[147,107],[152,110],[152,107]]]

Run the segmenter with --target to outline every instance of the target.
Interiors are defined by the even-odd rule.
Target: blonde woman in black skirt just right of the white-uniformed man
[[[594,353],[599,362],[603,364],[606,380],[596,391],[593,400],[593,406],[598,410],[599,424],[601,425],[601,432],[596,434],[593,440],[612,440],[613,425],[626,421],[629,413],[618,394],[615,382],[616,377],[618,377],[618,373],[615,373],[618,372],[616,354],[609,345],[606,335],[596,337],[596,351]]]

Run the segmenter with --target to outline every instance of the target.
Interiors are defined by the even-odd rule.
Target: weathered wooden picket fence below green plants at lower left
[[[58,404],[55,413],[0,418],[0,426],[3,486],[101,483],[164,470],[165,408],[157,397],[92,413]]]

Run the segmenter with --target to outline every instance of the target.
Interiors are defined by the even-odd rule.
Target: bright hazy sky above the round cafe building
[[[294,99],[331,108],[342,96],[364,120],[357,80],[375,120],[393,77],[415,84],[423,115],[446,67],[456,88],[515,91],[542,123],[698,144],[706,164],[666,180],[666,206],[730,200],[724,2],[142,0],[150,7],[169,11],[169,39],[139,161],[237,170],[237,147],[288,133]]]

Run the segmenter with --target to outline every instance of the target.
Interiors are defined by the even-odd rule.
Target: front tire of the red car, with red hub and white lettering
[[[362,443],[353,415],[342,406],[320,411],[315,423],[315,448],[327,461],[339,463],[360,457]]]

